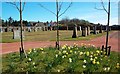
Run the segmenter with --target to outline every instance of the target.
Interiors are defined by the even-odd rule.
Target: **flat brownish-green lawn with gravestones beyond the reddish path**
[[[81,32],[78,31],[78,38],[72,38],[73,31],[59,31],[60,32],[60,40],[62,41],[74,41],[74,40],[90,40],[92,38],[100,37],[106,34],[99,33],[97,35],[91,34],[87,37],[80,37]],[[2,39],[0,42],[2,43],[10,43],[10,42],[18,42],[20,39],[12,39],[12,32],[4,32],[2,34]],[[25,38],[24,41],[55,41],[56,40],[56,31],[38,31],[38,32],[24,32]]]

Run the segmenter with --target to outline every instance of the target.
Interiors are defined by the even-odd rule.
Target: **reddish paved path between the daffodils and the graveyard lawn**
[[[120,51],[120,48],[118,47],[118,41],[120,40],[119,35],[120,31],[115,31],[109,35],[109,45],[112,47],[112,51]],[[92,40],[88,41],[60,41],[61,46],[64,44],[73,45],[74,43],[77,43],[79,46],[81,43],[85,44],[93,44],[96,47],[101,47],[102,45],[105,45],[105,37],[98,37]],[[0,53],[7,54],[10,52],[16,52],[19,51],[20,42],[14,42],[14,43],[0,43],[0,46],[2,46],[2,51]],[[49,46],[55,46],[55,41],[37,41],[37,42],[24,42],[24,48],[30,49],[30,48],[39,48],[39,47],[49,47]]]

